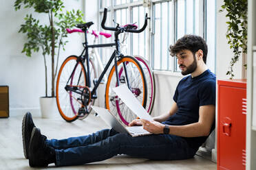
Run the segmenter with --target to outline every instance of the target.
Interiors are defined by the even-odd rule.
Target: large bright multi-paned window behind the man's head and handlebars
[[[151,0],[151,6],[145,8],[141,0],[101,0],[101,15],[105,6],[109,6],[112,14],[108,19],[113,16],[122,25],[136,23],[140,28],[145,13],[151,15],[144,32],[129,34],[126,53],[145,57],[155,70],[178,72],[176,58],[169,55],[169,45],[184,34],[195,34],[206,40],[209,48],[207,65],[215,72],[215,1]],[[111,19],[109,22],[109,26],[114,26]]]

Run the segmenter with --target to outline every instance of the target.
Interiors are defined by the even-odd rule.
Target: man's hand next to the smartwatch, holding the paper
[[[143,125],[143,129],[151,132],[152,134],[162,134],[164,132],[164,124],[158,121],[147,121],[145,119],[140,119]]]

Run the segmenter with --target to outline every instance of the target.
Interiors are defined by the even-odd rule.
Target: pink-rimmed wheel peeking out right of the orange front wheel
[[[140,66],[142,67],[145,74],[147,82],[147,106],[145,109],[149,114],[151,114],[156,96],[155,77],[153,75],[151,66],[149,66],[149,62],[145,58],[142,58],[141,56],[134,56],[134,58],[140,62]]]

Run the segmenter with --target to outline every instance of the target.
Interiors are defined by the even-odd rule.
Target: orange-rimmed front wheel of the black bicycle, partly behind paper
[[[145,75],[138,60],[131,56],[126,56],[118,60],[117,64],[120,85],[127,85],[128,80],[131,92],[134,93],[134,96],[145,108],[147,105],[147,82],[145,80]],[[124,65],[127,69],[127,77],[125,75],[125,69],[123,69]],[[137,116],[136,114],[134,114],[134,112],[131,112],[131,110],[127,108],[127,106],[122,102],[121,99],[118,98],[116,93],[114,93],[114,91],[112,90],[112,88],[118,86],[116,82],[116,76],[113,76],[115,73],[115,69],[116,67],[113,66],[111,71],[109,72],[109,77],[107,79],[105,93],[106,108],[110,110],[113,114],[116,114],[116,117],[119,117],[122,123],[128,125],[132,120],[136,119]]]

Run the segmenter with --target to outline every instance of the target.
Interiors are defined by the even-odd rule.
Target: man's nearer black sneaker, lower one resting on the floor
[[[39,128],[34,127],[29,147],[30,167],[47,167],[56,162],[55,149],[46,143],[46,137],[41,135]]]

